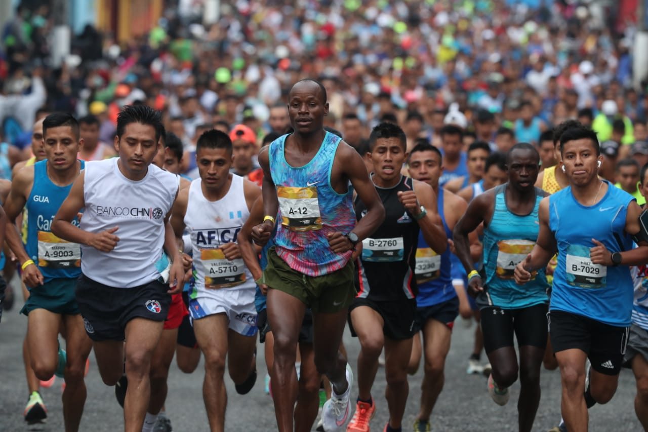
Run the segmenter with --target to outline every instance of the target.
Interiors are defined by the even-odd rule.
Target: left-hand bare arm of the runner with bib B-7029
[[[526,283],[531,272],[544,269],[557,251],[556,238],[549,228],[549,197],[542,198],[538,207],[538,239],[531,253],[515,267],[515,282]]]

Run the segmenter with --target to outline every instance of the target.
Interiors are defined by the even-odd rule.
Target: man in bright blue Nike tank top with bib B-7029
[[[599,180],[603,156],[595,132],[568,128],[561,154],[570,186],[542,200],[537,245],[515,279],[527,283],[558,252],[548,317],[562,375],[562,416],[568,430],[586,431],[586,407],[608,402],[618,385],[632,314],[629,266],[648,262],[648,232],[634,198]]]

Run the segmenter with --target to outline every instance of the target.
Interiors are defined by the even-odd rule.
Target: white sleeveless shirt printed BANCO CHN
[[[110,252],[81,245],[81,270],[88,278],[115,288],[156,280],[162,256],[164,220],[178,193],[179,176],[149,165],[145,178],[128,180],[119,158],[86,162],[81,228],[98,233],[119,226],[119,243]]]

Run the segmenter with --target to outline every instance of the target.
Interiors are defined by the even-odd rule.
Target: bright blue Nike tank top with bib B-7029
[[[592,239],[610,252],[632,249],[625,218],[632,196],[607,182],[605,196],[583,206],[566,187],[549,197],[549,227],[558,244],[550,310],[583,315],[610,326],[627,327],[632,314],[632,278],[627,265],[590,261]]]

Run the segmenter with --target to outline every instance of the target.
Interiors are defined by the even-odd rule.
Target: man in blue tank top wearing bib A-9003
[[[23,282],[29,287],[22,312],[29,321],[27,344],[32,368],[41,381],[54,374],[65,378],[65,429],[76,431],[86,402],[84,372],[92,346],[75,300],[81,248],[52,234],[51,224],[84,167],[84,162],[76,160],[82,140],[76,119],[61,113],[45,117],[43,139],[47,159],[17,173],[5,203],[12,222],[27,208],[27,245],[23,246],[12,224],[7,226],[6,240],[21,263]],[[78,225],[78,219],[73,223]],[[60,328],[65,328],[67,359],[58,344]],[[40,394],[33,392],[29,403],[42,405]],[[25,420],[40,421],[45,417],[42,411],[33,411]]]

